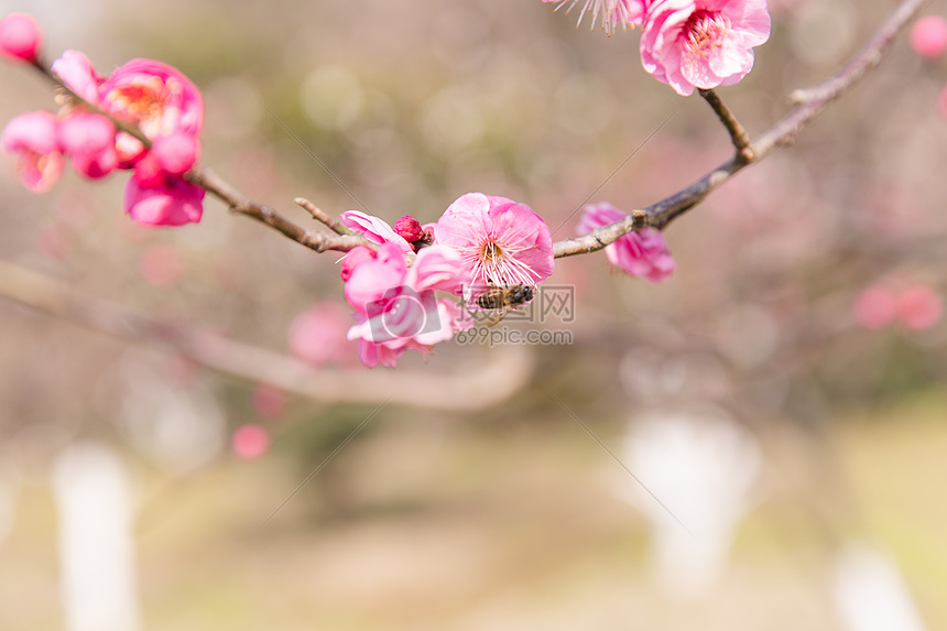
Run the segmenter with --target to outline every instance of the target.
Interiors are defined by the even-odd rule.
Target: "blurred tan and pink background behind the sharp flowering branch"
[[[762,133],[894,4],[771,1],[770,42],[721,97]],[[51,59],[181,68],[206,99],[203,163],[297,222],[296,196],[424,222],[477,191],[559,240],[586,202],[647,206],[731,148],[642,70],[638,33],[553,7],[0,14],[33,13]],[[209,198],[199,225],[137,226],[124,174],[35,196],[3,155],[4,278],[243,360],[210,370],[0,295],[0,629],[947,628],[945,83],[902,36],[795,146],[668,227],[670,281],[560,259],[569,309],[500,329],[568,344],[446,342],[394,371],[334,341],[335,254]],[[53,109],[36,73],[0,65],[0,86],[3,123]]]

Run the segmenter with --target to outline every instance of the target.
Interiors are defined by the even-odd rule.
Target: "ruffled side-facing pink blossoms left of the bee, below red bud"
[[[472,326],[453,301],[434,293],[454,291],[465,281],[460,255],[445,247],[424,248],[411,268],[390,242],[377,257],[362,257],[345,290],[357,320],[348,338],[359,340],[361,362],[394,367],[404,351],[429,353],[435,344]]]

